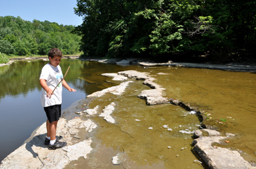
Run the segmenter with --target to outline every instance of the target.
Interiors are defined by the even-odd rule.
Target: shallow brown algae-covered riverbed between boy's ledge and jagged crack
[[[90,136],[94,144],[100,145],[95,145],[89,158],[75,162],[79,164],[76,168],[81,164],[86,168],[109,168],[111,157],[103,156],[110,152],[111,156],[123,153],[124,168],[203,168],[191,153],[191,133],[200,124],[197,116],[171,104],[147,106],[145,100],[137,97],[142,90],[149,89],[142,83],[133,80],[121,96],[104,94],[89,102],[90,109],[99,105],[100,111],[115,102],[111,114],[115,124],[109,124],[98,115],[90,116],[98,125]],[[111,168],[118,166],[111,164]]]

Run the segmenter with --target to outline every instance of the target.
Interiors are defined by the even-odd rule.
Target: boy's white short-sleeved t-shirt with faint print
[[[51,90],[54,90],[59,81],[63,78],[61,67],[58,65],[54,67],[51,64],[45,64],[39,79],[45,79],[46,84]],[[42,107],[49,107],[52,105],[61,105],[62,102],[62,82],[59,83],[51,98],[46,97],[46,91],[42,88],[41,104]]]

